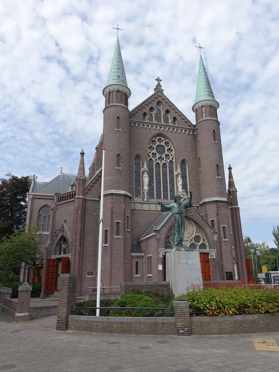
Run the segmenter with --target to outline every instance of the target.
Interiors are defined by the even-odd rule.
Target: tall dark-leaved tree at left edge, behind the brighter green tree
[[[0,239],[8,237],[14,229],[23,228],[27,210],[27,196],[32,177],[16,177],[7,173],[0,178]]]

